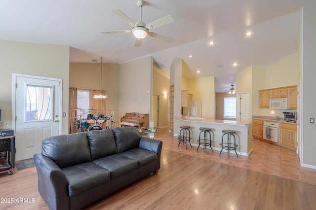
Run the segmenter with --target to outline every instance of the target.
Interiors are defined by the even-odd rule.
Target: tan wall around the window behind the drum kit
[[[70,63],[69,86],[86,90],[100,89],[101,63]],[[107,111],[104,115],[111,115],[110,109],[118,109],[118,64],[102,64],[102,90],[107,91],[109,98],[106,99]],[[90,107],[91,108],[91,107]],[[120,116],[118,110],[114,111],[115,126],[119,126]]]

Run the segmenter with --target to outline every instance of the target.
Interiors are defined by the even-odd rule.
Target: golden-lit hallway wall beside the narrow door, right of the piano
[[[170,80],[158,73],[154,67],[153,76],[153,95],[159,96],[159,112],[158,112],[158,128],[165,128],[169,126],[169,86]],[[164,97],[163,94],[166,93],[168,96]]]

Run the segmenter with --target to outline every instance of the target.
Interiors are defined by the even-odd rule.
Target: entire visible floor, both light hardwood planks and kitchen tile
[[[291,150],[253,140],[249,157],[180,144],[167,129],[158,175],[103,199],[89,210],[109,209],[224,209],[313,210],[316,207],[316,170],[301,168]],[[36,169],[0,175],[0,209],[47,210],[38,193]],[[4,202],[12,199],[12,203]],[[33,200],[32,200],[33,199]],[[3,202],[4,203],[3,203]]]

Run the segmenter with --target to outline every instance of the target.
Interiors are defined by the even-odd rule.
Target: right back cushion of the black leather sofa
[[[115,140],[117,142],[118,154],[138,147],[140,134],[135,127],[113,128]]]

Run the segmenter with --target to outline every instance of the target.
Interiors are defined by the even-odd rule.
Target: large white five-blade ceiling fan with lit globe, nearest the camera
[[[150,35],[154,38],[161,39],[166,42],[173,42],[174,39],[165,36],[165,35],[160,35],[154,32],[149,32],[149,29],[156,29],[160,26],[164,26],[169,23],[174,22],[174,18],[170,15],[167,15],[165,17],[162,17],[158,20],[155,20],[149,24],[145,24],[142,21],[142,7],[144,6],[144,0],[138,0],[137,1],[137,6],[139,6],[139,22],[134,23],[129,17],[127,17],[122,11],[119,9],[111,9],[112,12],[114,12],[118,17],[123,19],[126,23],[128,23],[130,26],[132,26],[131,30],[120,30],[120,31],[108,31],[108,32],[102,32],[102,34],[116,34],[116,33],[130,33],[132,32],[136,38],[135,40],[135,47],[139,47],[142,44],[142,39],[145,38],[147,35]]]

